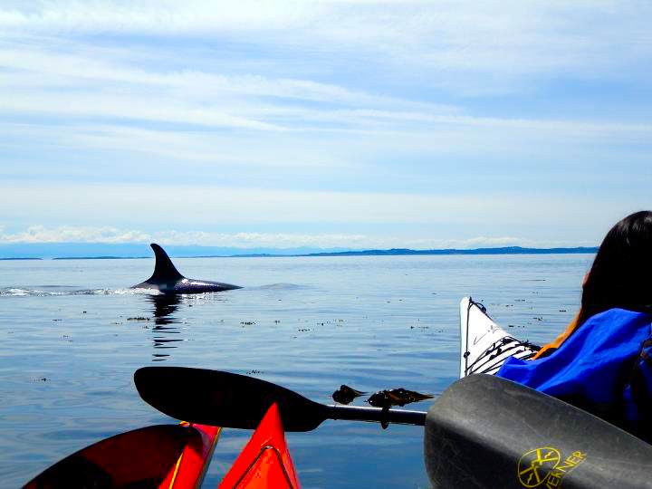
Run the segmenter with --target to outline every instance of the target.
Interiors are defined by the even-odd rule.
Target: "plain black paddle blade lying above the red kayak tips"
[[[170,417],[216,427],[254,429],[275,402],[285,431],[311,431],[327,407],[244,375],[185,367],[143,367],[134,373],[143,398]]]

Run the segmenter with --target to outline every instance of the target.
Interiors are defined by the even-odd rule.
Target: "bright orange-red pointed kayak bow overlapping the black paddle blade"
[[[273,404],[218,489],[299,489],[278,407]]]

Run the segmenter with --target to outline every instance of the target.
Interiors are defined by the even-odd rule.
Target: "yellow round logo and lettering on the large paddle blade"
[[[586,454],[573,452],[562,459],[561,452],[551,446],[535,448],[524,454],[519,460],[518,477],[524,487],[553,489],[560,487],[564,475],[586,459]]]

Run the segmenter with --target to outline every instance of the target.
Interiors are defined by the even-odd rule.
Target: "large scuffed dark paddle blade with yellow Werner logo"
[[[490,375],[458,380],[436,400],[424,443],[435,488],[652,487],[652,446]]]

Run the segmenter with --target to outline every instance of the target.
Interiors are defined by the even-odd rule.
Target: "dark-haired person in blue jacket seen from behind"
[[[614,225],[569,328],[496,375],[561,398],[652,443],[652,211]]]

